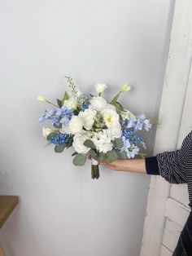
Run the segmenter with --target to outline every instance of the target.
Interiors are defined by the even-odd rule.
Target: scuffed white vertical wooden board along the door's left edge
[[[185,132],[181,125],[185,121],[182,116],[191,64],[191,16],[192,1],[176,0],[154,155],[175,150],[184,139]],[[169,190],[170,184],[162,177],[151,177],[141,256],[156,256],[160,255],[161,248],[166,250],[161,244]]]

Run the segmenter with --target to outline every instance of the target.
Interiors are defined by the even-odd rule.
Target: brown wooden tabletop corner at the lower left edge
[[[18,196],[0,196],[0,228],[18,204]]]

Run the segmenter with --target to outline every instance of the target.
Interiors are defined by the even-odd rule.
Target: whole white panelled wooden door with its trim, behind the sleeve
[[[192,1],[176,0],[154,155],[181,148],[192,130]],[[190,213],[186,184],[151,177],[141,256],[171,256]]]

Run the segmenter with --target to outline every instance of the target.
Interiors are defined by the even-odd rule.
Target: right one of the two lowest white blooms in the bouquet
[[[95,133],[92,140],[98,152],[103,152],[105,154],[108,151],[111,151],[113,147],[111,139],[107,136],[106,130],[103,130],[103,132]]]

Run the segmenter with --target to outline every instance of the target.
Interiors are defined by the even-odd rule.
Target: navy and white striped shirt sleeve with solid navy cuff
[[[146,172],[160,174],[169,183],[187,183],[192,209],[192,130],[183,140],[181,149],[146,157]]]

